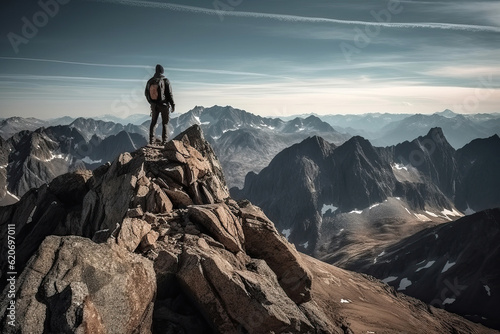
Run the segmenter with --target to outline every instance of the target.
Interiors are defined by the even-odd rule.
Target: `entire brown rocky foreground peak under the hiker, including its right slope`
[[[199,126],[30,190],[7,224],[2,333],[497,333],[297,252],[231,199]]]

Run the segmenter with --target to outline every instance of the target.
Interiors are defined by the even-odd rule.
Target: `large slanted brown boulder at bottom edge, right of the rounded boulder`
[[[279,287],[264,261],[244,263],[192,237],[180,257],[178,277],[221,333],[306,333],[312,325]],[[241,327],[240,327],[241,326]]]

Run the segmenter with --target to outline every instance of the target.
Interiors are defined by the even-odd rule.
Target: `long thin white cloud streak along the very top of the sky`
[[[172,3],[153,2],[153,1],[138,1],[138,0],[91,0],[97,2],[114,3],[118,5],[158,8],[171,11],[181,11],[205,15],[224,15],[243,18],[258,18],[258,19],[272,19],[285,22],[305,22],[305,23],[333,23],[344,25],[365,25],[365,26],[379,26],[387,28],[402,28],[402,29],[445,29],[445,30],[462,30],[462,31],[483,31],[483,32],[500,32],[500,27],[495,26],[482,26],[482,25],[468,25],[468,24],[453,24],[453,23],[435,23],[435,22],[414,22],[414,23],[401,23],[401,22],[369,22],[369,21],[356,21],[356,20],[339,20],[322,17],[308,17],[298,15],[285,15],[273,13],[260,13],[260,12],[242,12],[242,11],[221,11],[210,8],[186,6]]]

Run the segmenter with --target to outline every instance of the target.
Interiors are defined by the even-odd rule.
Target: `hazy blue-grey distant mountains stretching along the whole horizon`
[[[260,172],[281,150],[308,136],[318,135],[342,144],[352,135],[361,135],[378,146],[396,145],[423,136],[433,127],[441,127],[450,144],[460,148],[476,138],[500,134],[500,114],[460,115],[445,110],[433,115],[362,114],[301,115],[265,118],[229,106],[195,107],[184,114],[171,114],[170,136],[193,124],[199,124],[220,156],[230,187],[242,187],[248,172]],[[22,131],[40,127],[69,125],[90,141],[95,135],[104,139],[120,131],[137,133],[146,140],[149,115],[127,117],[104,115],[94,119],[61,117],[50,120],[13,117],[0,122],[0,137],[10,138]],[[160,127],[157,135],[161,135]],[[98,159],[96,160],[98,161]]]

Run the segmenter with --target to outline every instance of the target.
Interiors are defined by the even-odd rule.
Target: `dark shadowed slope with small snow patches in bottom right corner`
[[[500,329],[500,208],[426,228],[345,268]]]

